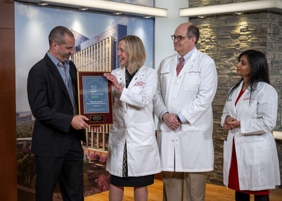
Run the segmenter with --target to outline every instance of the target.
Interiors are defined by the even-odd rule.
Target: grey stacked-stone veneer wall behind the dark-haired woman
[[[189,7],[232,2],[190,0]],[[196,47],[211,56],[217,67],[218,86],[213,101],[214,171],[209,174],[208,182],[223,185],[223,140],[228,132],[221,127],[220,118],[228,90],[241,78],[236,74],[237,56],[247,49],[260,50],[268,59],[270,81],[278,92],[277,125],[281,125],[282,15],[264,11],[189,18],[189,22],[200,30]],[[276,145],[282,176],[282,140],[276,140]]]

